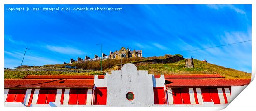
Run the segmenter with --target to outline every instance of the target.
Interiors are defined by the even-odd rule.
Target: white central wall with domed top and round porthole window
[[[107,106],[153,105],[154,93],[152,74],[138,71],[134,64],[127,63],[121,70],[107,74]],[[134,99],[129,101],[126,94],[133,92]]]

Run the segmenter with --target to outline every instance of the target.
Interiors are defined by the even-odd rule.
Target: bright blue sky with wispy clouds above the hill
[[[21,11],[15,7],[113,7],[122,11]],[[5,68],[62,64],[129,47],[144,57],[182,54],[251,73],[251,5],[5,5]]]

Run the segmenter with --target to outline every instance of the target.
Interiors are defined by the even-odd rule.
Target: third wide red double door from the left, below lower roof
[[[69,104],[86,104],[87,89],[70,89],[69,92]]]

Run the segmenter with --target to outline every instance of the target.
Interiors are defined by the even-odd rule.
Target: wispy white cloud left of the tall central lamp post
[[[71,54],[71,55],[81,55],[83,52],[81,50],[72,48],[72,47],[61,47],[61,46],[52,46],[46,45],[46,48],[52,52],[58,52],[61,54]]]

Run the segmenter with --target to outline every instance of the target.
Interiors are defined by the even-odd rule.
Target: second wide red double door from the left
[[[57,89],[40,89],[36,104],[49,104],[55,101]]]

